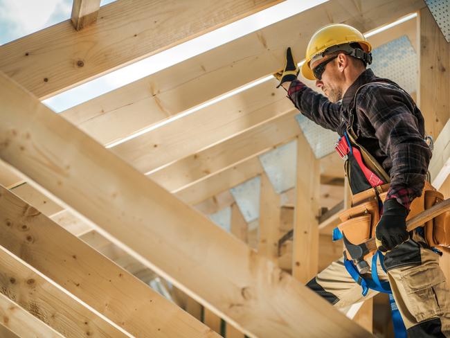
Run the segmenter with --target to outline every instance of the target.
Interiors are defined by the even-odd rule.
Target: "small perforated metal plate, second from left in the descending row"
[[[260,177],[255,177],[230,189],[230,193],[247,223],[260,217],[260,184]]]

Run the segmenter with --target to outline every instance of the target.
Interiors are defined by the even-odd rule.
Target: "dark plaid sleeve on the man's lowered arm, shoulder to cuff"
[[[420,132],[413,114],[415,104],[401,89],[377,85],[361,90],[358,108],[370,121],[381,150],[393,163],[386,198],[395,198],[409,209],[413,199],[422,195],[431,159],[424,132]]]

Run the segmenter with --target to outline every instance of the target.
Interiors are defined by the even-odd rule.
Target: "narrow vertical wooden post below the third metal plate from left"
[[[280,238],[280,195],[273,188],[265,172],[261,175],[260,192],[260,241],[258,253],[278,260],[278,239]]]

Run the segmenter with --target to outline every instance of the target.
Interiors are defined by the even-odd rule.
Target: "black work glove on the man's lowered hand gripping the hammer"
[[[406,231],[406,208],[395,198],[383,204],[383,215],[375,228],[375,242],[379,251],[389,251],[409,239]]]

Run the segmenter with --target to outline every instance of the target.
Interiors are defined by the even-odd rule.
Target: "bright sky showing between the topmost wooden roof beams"
[[[57,24],[71,16],[73,0],[0,0],[0,45]],[[114,0],[102,0],[104,6]],[[286,0],[213,32],[192,39],[43,101],[62,112],[96,96],[204,53],[233,39],[303,12],[327,0]],[[38,13],[38,15],[36,15]]]

